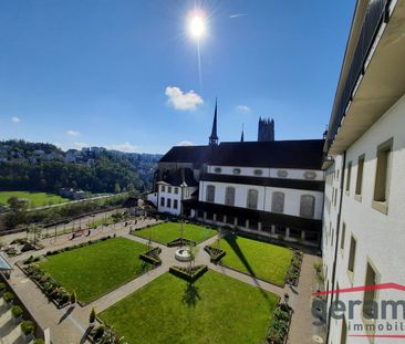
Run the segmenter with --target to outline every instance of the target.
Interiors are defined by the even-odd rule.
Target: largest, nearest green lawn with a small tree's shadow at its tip
[[[129,344],[263,343],[277,295],[211,270],[187,285],[165,273],[98,315]]]

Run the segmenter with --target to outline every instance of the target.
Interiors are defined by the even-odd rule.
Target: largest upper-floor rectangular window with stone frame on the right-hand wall
[[[387,212],[392,147],[393,139],[391,138],[377,148],[377,170],[375,173],[373,208],[384,213]]]

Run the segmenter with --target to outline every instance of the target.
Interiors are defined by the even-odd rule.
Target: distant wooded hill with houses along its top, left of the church
[[[160,155],[90,147],[63,152],[52,144],[0,142],[0,190],[91,192],[148,190]]]

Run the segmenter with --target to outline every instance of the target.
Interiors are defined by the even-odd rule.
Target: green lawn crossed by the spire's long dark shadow
[[[292,251],[279,246],[229,236],[220,240],[221,263],[277,285],[284,285]]]

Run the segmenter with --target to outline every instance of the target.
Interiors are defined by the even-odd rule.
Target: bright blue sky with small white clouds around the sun
[[[1,1],[0,139],[165,153],[218,136],[320,138],[355,1]],[[197,43],[195,7],[207,18]],[[242,15],[235,15],[242,14]],[[190,93],[190,91],[194,91]]]

